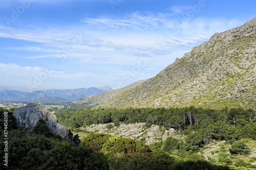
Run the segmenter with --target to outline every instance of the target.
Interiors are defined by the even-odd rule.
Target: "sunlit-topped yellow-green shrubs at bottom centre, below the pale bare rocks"
[[[152,151],[142,141],[92,134],[82,139],[82,146],[108,156],[112,169],[168,169],[174,158],[162,151]]]

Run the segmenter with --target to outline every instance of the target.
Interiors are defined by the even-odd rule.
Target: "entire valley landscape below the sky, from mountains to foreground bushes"
[[[0,96],[10,169],[255,169],[256,17],[120,89]]]

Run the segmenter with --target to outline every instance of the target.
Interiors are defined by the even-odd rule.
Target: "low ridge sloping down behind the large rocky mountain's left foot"
[[[76,106],[96,106],[96,105],[101,104],[104,100],[108,99],[110,96],[118,94],[118,93],[123,92],[125,90],[132,89],[132,88],[140,85],[141,83],[143,83],[145,81],[146,80],[140,80],[140,81],[132,83],[128,86],[125,86],[123,88],[119,88],[119,89],[116,89],[116,90],[110,90],[110,91],[104,91],[104,92],[102,92],[100,94],[97,94],[97,95],[86,96],[82,99],[74,101],[72,103],[72,105],[76,105]]]

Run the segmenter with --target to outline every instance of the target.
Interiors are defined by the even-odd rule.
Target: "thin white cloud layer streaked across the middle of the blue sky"
[[[138,78],[132,77],[133,80],[156,75],[176,57],[181,58],[191,47],[207,41],[214,33],[243,24],[237,19],[204,17],[184,24],[176,16],[185,10],[185,7],[171,7],[168,13],[133,12],[122,17],[87,17],[66,27],[18,29],[0,26],[0,37],[29,42],[29,45],[18,43],[0,47],[0,50],[14,51],[13,55],[29,61],[59,61],[61,66],[52,70],[49,80],[45,81],[49,87],[53,82],[63,86],[81,81],[100,86],[103,80],[115,86],[122,81],[123,73],[131,71],[141,57],[151,58],[151,62],[141,68],[136,75]],[[61,60],[63,55],[64,61]],[[0,63],[0,74],[14,84],[26,84],[45,71],[39,62],[34,65]],[[125,85],[132,83],[123,81]]]

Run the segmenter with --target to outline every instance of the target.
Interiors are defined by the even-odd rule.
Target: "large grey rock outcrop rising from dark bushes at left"
[[[55,135],[60,135],[67,140],[71,140],[69,136],[73,137],[65,126],[58,123],[56,116],[40,104],[29,103],[27,106],[17,108],[13,111],[13,116],[16,117],[19,129],[25,128],[32,131],[38,120],[44,119],[50,131]]]

